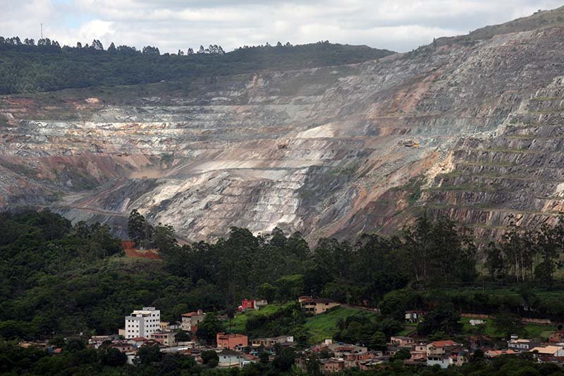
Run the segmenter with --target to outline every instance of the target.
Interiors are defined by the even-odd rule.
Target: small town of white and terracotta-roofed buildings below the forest
[[[264,299],[244,299],[236,315],[254,313],[268,304]],[[307,315],[327,315],[341,304],[325,298],[300,296],[298,305]],[[414,325],[424,320],[424,311],[406,311],[405,324]],[[210,317],[213,316],[210,315]],[[151,348],[166,357],[180,354],[193,358],[197,364],[212,368],[244,368],[251,363],[268,363],[276,356],[290,349],[295,353],[295,367],[311,373],[312,360],[324,374],[345,370],[386,369],[394,361],[413,368],[434,367],[446,369],[460,367],[472,358],[480,357],[494,360],[499,356],[529,356],[537,363],[564,365],[564,330],[551,332],[546,341],[520,338],[512,334],[507,341],[492,341],[484,335],[470,335],[467,341],[434,340],[410,335],[391,336],[385,346],[376,350],[369,344],[345,343],[334,339],[324,339],[312,346],[301,346],[292,335],[269,338],[250,338],[245,334],[216,332],[212,341],[198,338],[198,328],[203,325],[207,313],[203,310],[184,313],[178,321],[161,321],[161,312],[156,307],[143,307],[125,316],[125,325],[117,334],[91,336],[87,339],[89,348],[114,348],[125,354],[127,363],[140,363],[142,349]],[[489,318],[486,315],[467,315],[469,325],[480,332]],[[218,316],[227,321],[227,317]],[[551,324],[550,320],[524,320]],[[562,328],[562,325],[558,325]],[[68,339],[65,339],[68,341]],[[21,342],[27,348],[37,346],[46,349],[51,355],[63,353],[63,348],[54,346],[51,341]]]

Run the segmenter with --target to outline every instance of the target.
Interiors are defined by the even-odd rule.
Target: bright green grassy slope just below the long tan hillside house
[[[337,323],[341,319],[353,315],[362,315],[373,319],[375,313],[357,308],[336,307],[329,312],[314,317],[309,317],[304,327],[309,331],[309,343],[317,344],[324,339],[333,338],[337,332]]]

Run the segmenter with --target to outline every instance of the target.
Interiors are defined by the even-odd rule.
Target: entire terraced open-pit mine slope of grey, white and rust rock
[[[542,28],[139,99],[0,99],[0,206],[115,225],[136,208],[191,241],[353,237],[427,208],[484,236],[536,225],[562,205],[563,68],[564,28]]]

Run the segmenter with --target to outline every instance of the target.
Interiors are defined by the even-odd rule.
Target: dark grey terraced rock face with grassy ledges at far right
[[[554,224],[564,212],[564,78],[524,102],[495,135],[460,140],[453,169],[424,199],[436,215],[463,219],[484,238],[511,222]]]

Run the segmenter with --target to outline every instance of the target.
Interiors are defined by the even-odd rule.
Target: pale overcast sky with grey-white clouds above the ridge
[[[0,0],[0,35],[176,52],[329,40],[409,51],[564,0]]]

